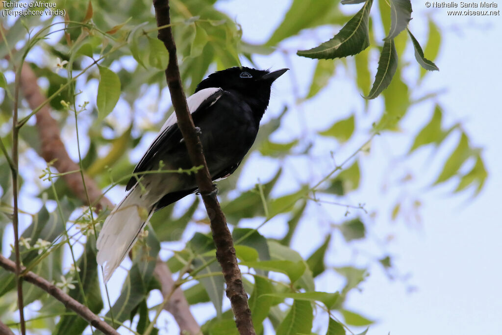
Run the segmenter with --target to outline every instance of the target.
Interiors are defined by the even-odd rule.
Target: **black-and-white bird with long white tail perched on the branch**
[[[237,169],[255,142],[272,83],[287,70],[231,67],[216,71],[187,98],[213,181]],[[190,169],[192,164],[173,113],[134,169],[128,193],[106,217],[99,233],[96,260],[103,267],[105,282],[155,211],[197,191],[193,173],[162,172],[180,168]]]

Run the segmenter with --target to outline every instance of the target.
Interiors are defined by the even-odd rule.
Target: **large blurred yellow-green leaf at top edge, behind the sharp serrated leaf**
[[[341,24],[345,17],[331,0],[294,0],[282,23],[277,27],[268,46],[298,34],[306,28],[325,24]]]

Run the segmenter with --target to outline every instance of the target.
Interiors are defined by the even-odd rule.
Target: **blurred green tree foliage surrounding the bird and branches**
[[[250,294],[249,304],[257,333],[275,329],[281,334],[296,334],[322,329],[327,334],[344,334],[347,327],[355,327],[354,333],[364,334],[373,321],[344,306],[347,294],[367,278],[368,271],[356,264],[334,267],[327,261],[327,255],[334,243],[338,248],[352,248],[356,241],[364,243],[369,239],[367,230],[371,217],[365,206],[343,201],[344,196],[360,189],[364,181],[365,172],[361,169],[364,159],[358,153],[368,149],[375,135],[386,136],[399,129],[411,106],[428,100],[427,96],[411,99],[425,72],[420,72],[415,81],[404,80],[402,60],[406,57],[406,47],[412,46],[418,62],[412,66],[417,70],[419,66],[428,71],[438,70],[433,61],[439,52],[441,33],[432,20],[415,18],[414,23],[421,21],[429,25],[429,40],[424,48],[421,47],[410,31],[412,7],[409,0],[391,0],[390,6],[379,1],[378,7],[372,0],[342,1],[342,5],[332,1],[294,0],[284,20],[271,32],[270,39],[257,45],[242,40],[238,23],[217,9],[224,7],[224,2],[218,7],[214,3],[208,0],[170,1],[187,94],[214,70],[241,63],[254,65],[257,55],[287,52],[281,49],[285,40],[297,43],[300,50],[304,43],[298,38],[299,34],[330,26],[339,29],[332,39],[297,52],[298,56],[318,59],[312,78],[302,78],[310,85],[304,96],[297,96],[298,103],[318,97],[338,68],[352,71],[352,84],[366,99],[380,97],[383,100],[380,113],[364,115],[364,118],[372,118],[373,127],[368,132],[360,127],[363,114],[354,111],[337,116],[321,130],[310,131],[307,135],[293,134],[282,142],[274,134],[283,129],[285,119],[299,106],[286,106],[282,113],[271,111],[272,117],[262,124],[252,153],[231,177],[219,183],[222,208],[233,228],[236,255]],[[340,10],[349,4],[361,6],[352,17]],[[160,128],[172,111],[163,101],[163,70],[169,55],[156,38],[157,27],[152,4],[148,1],[126,0],[117,6],[113,2],[77,0],[58,2],[57,9],[65,11],[64,18],[27,16],[10,18],[3,23],[5,37],[0,44],[0,57],[9,56],[10,60],[0,63],[3,66],[0,68],[0,91],[4,92],[0,101],[3,126],[0,136],[3,145],[12,148],[12,130],[6,125],[12,122],[15,71],[26,61],[50,99],[53,116],[67,141],[66,148],[73,153],[77,151],[73,157],[81,158],[83,171],[106,193],[111,186],[127,183],[137,153],[145,148],[151,133]],[[376,39],[376,22],[383,25],[386,34],[383,42]],[[370,55],[376,52],[380,53],[378,68],[370,60]],[[296,50],[288,55],[298,56]],[[375,78],[370,88],[371,73],[375,73]],[[330,94],[335,99],[337,92]],[[361,96],[351,98],[362,100]],[[363,103],[367,107],[371,102],[364,100]],[[446,161],[435,162],[441,172],[430,186],[454,181],[457,186],[452,192],[465,191],[472,186],[477,194],[487,177],[481,150],[472,145],[460,124],[446,124],[444,113],[441,106],[436,105],[431,120],[422,129],[414,130],[415,135],[409,134],[413,144],[407,159],[413,159],[423,147],[437,148],[450,137],[457,136],[458,145]],[[132,265],[121,283],[119,296],[111,301],[111,309],[108,308],[106,294],[100,291],[95,263],[95,233],[105,214],[97,216],[91,208],[82,206],[61,175],[41,163],[36,157],[41,149],[32,110],[21,104],[20,116],[28,121],[20,132],[24,165],[22,186],[26,186],[22,188],[22,197],[27,199],[26,203],[33,204],[22,208],[25,217],[31,220],[20,240],[24,266],[56,282],[114,327],[156,333],[162,325],[156,323],[155,313],[149,311],[160,311],[162,306],[147,304],[152,292],[159,288],[153,276],[155,260],[161,245],[181,240],[185,246],[169,253],[167,265],[175,273],[178,284],[189,283],[182,288],[190,304],[212,303],[213,308],[208,311],[212,316],[202,325],[203,332],[235,332],[232,314],[223,308],[224,281],[214,261],[212,238],[210,234],[194,234],[187,229],[195,226],[202,232],[207,231],[207,219],[198,210],[199,200],[193,197],[168,206],[152,217],[148,234],[144,234],[133,249]],[[81,144],[85,144],[79,148],[75,146],[77,134]],[[361,142],[361,138],[367,141]],[[292,182],[287,174],[294,170],[295,159],[314,159],[312,147],[320,141],[330,141],[332,146],[359,145],[354,146],[351,155],[337,156],[338,164],[333,164],[330,152],[324,149],[323,162],[312,178],[298,178],[301,181]],[[243,171],[248,166],[256,167],[253,157],[257,156],[266,158],[277,169],[274,173],[264,172],[263,179],[257,180],[255,186],[236,187],[250,184],[242,182],[246,178]],[[31,161],[35,164],[28,163]],[[6,228],[11,225],[13,210],[7,156],[0,157],[0,166],[0,247],[6,250],[8,247],[1,242],[5,241],[4,235],[9,236]],[[282,187],[284,180],[290,180],[291,187]],[[398,201],[392,208],[393,219],[403,214],[404,201]],[[419,199],[415,199],[415,208],[419,204]],[[318,217],[312,213],[318,206],[329,205],[336,205],[342,211],[336,217],[325,218],[330,222],[329,231],[323,232],[322,243],[312,248],[310,256],[303,257],[294,250],[293,243],[295,238],[301,239],[297,236],[299,227],[303,224],[315,229]],[[249,227],[246,225],[249,220],[260,223],[255,229],[244,228]],[[282,238],[274,239],[261,233],[260,228],[269,222],[285,227]],[[68,260],[72,264],[70,269],[63,265]],[[390,256],[383,255],[380,260],[375,262],[385,270],[392,267]],[[316,278],[328,273],[344,278],[345,284],[317,288]],[[81,333],[90,329],[51,295],[28,283],[23,287],[25,305],[38,301],[40,304],[32,306],[41,306],[36,307],[32,320],[27,322],[28,328],[53,333]],[[9,325],[13,327],[17,325],[12,301],[15,290],[14,274],[0,273],[0,316],[2,320],[10,320]],[[320,315],[326,314],[329,321],[319,325]]]

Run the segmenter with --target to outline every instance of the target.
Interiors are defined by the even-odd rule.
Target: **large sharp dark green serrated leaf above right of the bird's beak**
[[[310,50],[300,50],[298,56],[330,59],[355,55],[369,46],[368,17],[373,0],[367,0],[331,40]]]

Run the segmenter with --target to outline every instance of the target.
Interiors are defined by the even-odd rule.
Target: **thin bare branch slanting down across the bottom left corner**
[[[11,272],[16,272],[16,263],[11,261],[8,258],[5,258],[4,256],[0,255],[0,266],[2,266],[4,269],[7,271]],[[23,266],[21,267],[22,271],[25,271],[26,268]],[[68,294],[63,292],[61,289],[58,287],[54,286],[51,284],[49,281],[45,280],[42,277],[39,277],[38,275],[34,274],[31,271],[28,271],[25,273],[23,276],[23,279],[27,282],[30,282],[34,284],[35,286],[40,287],[44,291],[48,292],[50,295],[61,301],[67,308],[73,310],[76,312],[78,315],[83,317],[87,322],[89,322],[92,326],[94,326],[96,329],[101,330],[105,334],[116,334],[118,335],[118,332],[113,329],[108,323],[105,321],[101,320],[96,314],[91,312],[87,306],[81,304],[77,300],[73,299],[70,297]]]

